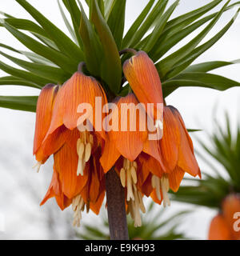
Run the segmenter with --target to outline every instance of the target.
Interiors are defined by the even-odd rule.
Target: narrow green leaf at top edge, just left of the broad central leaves
[[[62,0],[64,5],[66,6],[66,9],[69,11],[72,23],[74,26],[75,35],[78,39],[78,44],[82,48],[82,40],[80,38],[80,35],[78,33],[80,21],[81,21],[81,12],[78,8],[77,2],[75,0]]]

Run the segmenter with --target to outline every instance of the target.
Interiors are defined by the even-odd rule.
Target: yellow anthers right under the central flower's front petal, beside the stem
[[[120,179],[122,186],[126,187],[126,201],[132,199],[134,201],[134,186],[138,182],[137,178],[137,162],[130,162],[128,159],[123,160],[123,167],[120,170]]]

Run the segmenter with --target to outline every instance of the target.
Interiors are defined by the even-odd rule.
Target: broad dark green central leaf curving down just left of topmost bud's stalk
[[[110,90],[117,94],[122,81],[122,65],[118,54],[118,47],[114,42],[109,26],[107,26],[106,21],[102,17],[96,0],[91,0],[90,2],[92,3],[90,19],[98,32],[104,52],[101,66],[102,79],[110,87]]]

